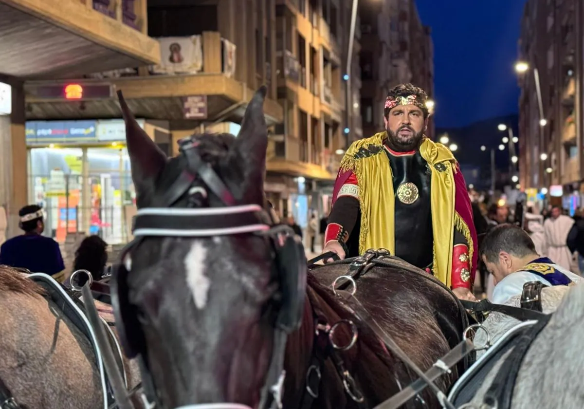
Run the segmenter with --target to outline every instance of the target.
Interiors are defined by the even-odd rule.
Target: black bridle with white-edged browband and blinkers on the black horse
[[[272,279],[279,283],[279,308],[274,322],[273,353],[262,388],[258,409],[281,408],[284,352],[287,335],[301,323],[306,285],[306,258],[300,239],[288,226],[276,226],[273,217],[262,206],[248,204],[238,206],[237,201],[221,178],[210,165],[201,160],[197,152],[198,143],[192,138],[179,142],[180,153],[187,160],[187,167],[171,186],[162,193],[162,200],[155,201],[159,207],[138,210],[133,226],[134,241],[120,253],[120,264],[110,280],[112,306],[116,317],[116,327],[120,342],[128,358],[137,356],[142,373],[145,397],[156,407],[162,407],[157,397],[154,380],[148,370],[144,339],[135,339],[141,334],[136,327],[135,316],[131,317],[132,306],[127,300],[126,275],[131,266],[126,266],[126,258],[147,237],[213,237],[217,235],[256,234],[272,241]],[[193,195],[205,195],[206,190],[194,186],[196,178],[201,179],[225,207],[212,208],[171,208],[179,199],[188,195],[189,206],[196,200]],[[163,207],[164,206],[164,207]],[[128,310],[130,314],[128,314]],[[130,334],[128,329],[132,330]],[[142,334],[143,335],[143,334]],[[117,400],[117,397],[116,397]],[[190,404],[180,409],[251,409],[237,403]]]

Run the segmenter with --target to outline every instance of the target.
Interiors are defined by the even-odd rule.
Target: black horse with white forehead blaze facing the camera
[[[112,278],[119,298],[114,306],[119,307],[117,322],[124,321],[126,352],[142,359],[142,379],[150,379],[157,408],[277,407],[266,403],[266,390],[278,400],[283,379],[271,383],[278,359],[284,360],[284,408],[370,408],[416,379],[333,294],[330,284],[348,265],[322,266],[306,278],[304,254],[300,261],[290,257],[294,248],[278,228],[266,231],[261,210],[265,92],[260,88],[249,103],[237,137],[196,135],[182,141],[182,154],[170,159],[140,129],[120,95],[138,214],[137,241]],[[463,313],[449,290],[412,269],[374,267],[357,281],[357,296],[427,370],[461,340]],[[294,280],[300,282],[290,285]],[[281,311],[294,304],[294,297],[305,296],[301,327],[288,334],[280,355]],[[317,322],[317,316],[326,322]],[[307,400],[311,359],[318,352],[315,330],[326,333],[322,324],[342,322],[335,342],[347,342],[354,334],[343,319],[356,324],[356,344],[332,353],[331,344],[323,346],[330,356],[319,366],[321,380],[312,389],[318,396]],[[356,398],[343,386],[348,375]],[[457,377],[454,368],[437,384],[446,391]],[[439,404],[423,393],[408,407]]]

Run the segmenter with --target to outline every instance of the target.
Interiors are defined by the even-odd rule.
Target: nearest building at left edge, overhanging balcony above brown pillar
[[[144,23],[146,0],[111,3],[0,0],[0,212],[8,216],[7,237],[21,233],[18,210],[30,203],[25,81],[160,62]]]

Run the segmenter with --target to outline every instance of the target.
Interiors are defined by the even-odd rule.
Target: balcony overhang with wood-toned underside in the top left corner
[[[145,22],[146,0],[2,0],[0,74],[79,78],[158,64],[160,47]]]

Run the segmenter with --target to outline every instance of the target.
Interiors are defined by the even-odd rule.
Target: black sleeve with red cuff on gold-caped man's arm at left
[[[359,185],[354,174],[350,174],[339,188],[328,225],[325,231],[326,243],[336,240],[346,242],[359,216]]]

